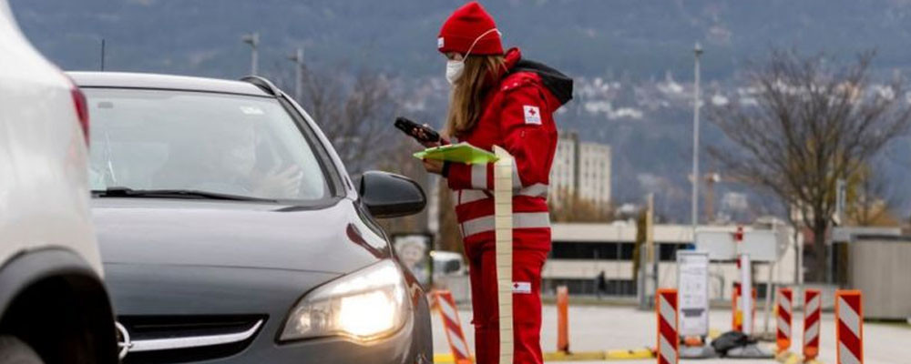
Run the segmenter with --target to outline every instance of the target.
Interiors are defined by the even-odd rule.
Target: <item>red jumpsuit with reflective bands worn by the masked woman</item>
[[[550,250],[548,177],[557,148],[552,113],[568,102],[572,80],[548,66],[506,53],[509,71],[483,97],[476,126],[459,141],[515,157],[513,170],[513,318],[515,362],[541,363],[541,268]],[[471,274],[476,358],[495,364],[499,323],[494,253],[493,164],[449,163],[445,177],[453,190],[455,215]]]

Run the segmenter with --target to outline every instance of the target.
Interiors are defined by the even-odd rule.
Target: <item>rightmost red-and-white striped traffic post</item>
[[[859,290],[835,291],[835,341],[838,364],[864,363],[864,305]]]

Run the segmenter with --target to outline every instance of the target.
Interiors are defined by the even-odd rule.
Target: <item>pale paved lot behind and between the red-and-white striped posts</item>
[[[465,331],[469,348],[474,348],[474,329],[471,326],[471,310],[460,309],[462,329]],[[757,312],[756,329],[763,329],[763,314]],[[557,349],[557,308],[545,306],[542,312],[541,348],[545,352]],[[570,306],[569,307],[569,349],[573,352],[604,351],[608,349],[642,349],[655,345],[655,313],[640,311],[632,307],[616,306]],[[434,313],[434,352],[448,354],[449,345],[441,327],[438,314]],[[774,319],[769,322],[770,330],[774,329]],[[710,326],[713,329],[727,331],[731,328],[730,309],[712,309]],[[797,312],[793,319],[793,339],[791,350],[800,353],[804,330],[804,315]],[[821,329],[820,356],[824,364],[835,364],[834,315],[823,314]],[[865,364],[911,363],[911,325],[882,324],[865,322],[864,324],[864,362]],[[769,344],[771,345],[771,343]],[[600,361],[548,361],[548,363],[595,363]],[[629,363],[653,363],[655,359],[626,360]],[[730,363],[768,364],[773,359],[699,359],[681,360],[681,363]]]

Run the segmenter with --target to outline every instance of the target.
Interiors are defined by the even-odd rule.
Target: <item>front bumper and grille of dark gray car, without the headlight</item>
[[[133,347],[124,364],[432,362],[430,313],[419,290],[412,314],[388,337],[366,343],[344,338],[279,343],[287,311],[301,292],[332,275],[142,265],[106,269],[118,321]],[[288,288],[287,282],[300,286]],[[191,345],[191,338],[202,338],[197,340],[202,344]]]

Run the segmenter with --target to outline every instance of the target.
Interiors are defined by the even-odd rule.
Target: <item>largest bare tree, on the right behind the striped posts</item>
[[[780,198],[795,226],[813,231],[809,279],[827,268],[825,234],[836,180],[854,175],[911,122],[904,83],[871,80],[874,53],[848,66],[773,50],[746,74],[751,92],[709,109],[735,145],[711,147],[729,173]]]

